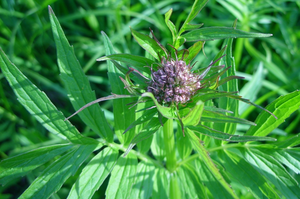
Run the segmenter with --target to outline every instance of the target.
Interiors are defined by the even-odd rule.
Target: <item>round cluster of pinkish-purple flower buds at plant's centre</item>
[[[147,87],[158,102],[184,104],[200,88],[200,76],[192,73],[190,64],[182,60],[162,58],[158,70],[152,71],[152,80]]]

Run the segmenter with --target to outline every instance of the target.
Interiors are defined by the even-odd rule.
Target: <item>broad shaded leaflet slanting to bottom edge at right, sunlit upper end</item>
[[[280,198],[262,175],[240,156],[220,151],[220,160],[226,171],[246,187],[255,198]]]

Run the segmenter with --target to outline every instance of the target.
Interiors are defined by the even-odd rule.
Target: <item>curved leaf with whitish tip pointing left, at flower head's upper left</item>
[[[112,54],[97,59],[97,61],[106,61],[106,60],[116,60],[116,61],[124,62],[126,64],[130,64],[131,66],[136,67],[137,69],[149,75],[151,74],[151,70],[149,69],[151,66],[153,67],[153,69],[157,68],[155,61],[152,61],[151,59],[142,56],[131,55],[131,54]]]

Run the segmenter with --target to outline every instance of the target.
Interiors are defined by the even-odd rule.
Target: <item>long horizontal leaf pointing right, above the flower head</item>
[[[179,38],[184,38],[187,42],[207,41],[226,38],[251,38],[251,37],[270,37],[272,34],[263,34],[255,32],[245,32],[235,28],[209,27],[192,30]]]

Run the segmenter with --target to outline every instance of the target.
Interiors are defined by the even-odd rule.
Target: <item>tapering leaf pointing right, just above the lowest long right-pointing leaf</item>
[[[256,126],[255,123],[248,120],[244,120],[238,117],[232,117],[222,113],[203,110],[201,122],[232,122],[232,123],[241,123],[241,124],[250,124]]]

